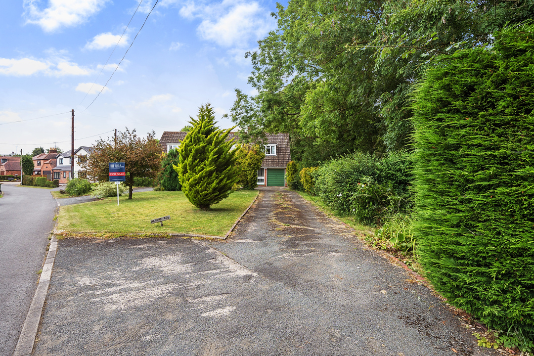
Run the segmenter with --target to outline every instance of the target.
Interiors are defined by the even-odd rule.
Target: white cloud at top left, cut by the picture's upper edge
[[[46,32],[60,27],[76,26],[99,12],[108,0],[49,0],[46,9],[40,9],[38,0],[24,0],[26,23],[35,23]]]

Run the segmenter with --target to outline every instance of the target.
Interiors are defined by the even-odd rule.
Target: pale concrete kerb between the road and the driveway
[[[39,327],[41,314],[43,312],[46,292],[48,292],[48,288],[50,286],[52,267],[54,265],[54,260],[56,259],[57,248],[58,240],[56,239],[56,236],[52,235],[48,254],[46,255],[46,260],[41,272],[41,277],[39,279],[39,283],[37,284],[37,290],[35,291],[32,304],[30,304],[30,308],[28,314],[26,315],[24,325],[22,326],[22,331],[20,333],[13,356],[29,355],[33,351],[37,329]]]

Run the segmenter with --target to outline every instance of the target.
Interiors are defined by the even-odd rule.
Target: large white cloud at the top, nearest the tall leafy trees
[[[269,11],[255,1],[224,0],[206,6],[190,2],[183,5],[179,13],[187,19],[201,18],[199,35],[225,47],[245,47],[276,27]]]

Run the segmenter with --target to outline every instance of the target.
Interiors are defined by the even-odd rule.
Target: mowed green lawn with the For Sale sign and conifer
[[[108,197],[95,202],[61,207],[57,229],[67,234],[171,234],[189,233],[224,236],[258,191],[237,191],[210,211],[195,208],[183,192],[138,192]],[[150,220],[170,215],[170,220],[151,224]]]

